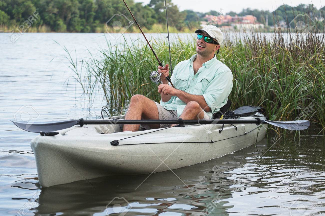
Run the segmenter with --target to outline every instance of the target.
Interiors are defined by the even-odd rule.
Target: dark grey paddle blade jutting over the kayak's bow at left
[[[49,132],[57,131],[72,127],[78,124],[78,120],[63,120],[63,121],[52,121],[52,122],[22,122],[22,121],[11,121],[20,129],[29,131],[29,132]]]

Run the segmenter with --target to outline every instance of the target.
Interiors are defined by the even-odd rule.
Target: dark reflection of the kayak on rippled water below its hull
[[[258,151],[266,147],[259,145]],[[103,216],[117,210],[128,211],[127,215],[167,212],[168,215],[202,215],[210,211],[214,215],[227,215],[227,210],[233,207],[227,199],[232,198],[234,191],[247,187],[232,176],[245,166],[246,172],[250,172],[250,163],[258,151],[251,146],[219,159],[173,171],[89,180],[94,187],[87,180],[51,186],[43,189],[38,199],[40,205],[35,210],[41,215],[62,212]],[[120,208],[114,207],[116,204]],[[210,209],[207,208],[209,204]]]

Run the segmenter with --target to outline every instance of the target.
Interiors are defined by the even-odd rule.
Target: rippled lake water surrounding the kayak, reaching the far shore
[[[95,92],[89,102],[63,47],[79,61],[99,56],[106,40],[115,44],[123,38],[25,33],[13,43],[10,34],[0,33],[0,215],[118,215],[115,208],[128,205],[126,215],[325,214],[325,139],[316,139],[313,129],[300,138],[269,131],[257,145],[174,173],[90,180],[96,189],[85,180],[42,190],[33,179],[37,171],[29,146],[37,134],[9,120],[98,118],[103,95]]]

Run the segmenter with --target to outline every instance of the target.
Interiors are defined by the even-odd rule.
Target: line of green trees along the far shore
[[[141,27],[151,30],[155,24],[165,25],[163,0],[151,0],[148,5],[126,1]],[[193,10],[180,11],[171,1],[167,0],[168,22],[176,30],[197,28],[201,21],[207,21],[205,15],[220,15],[211,10],[207,13]],[[280,20],[289,24],[298,14],[308,14],[312,19],[324,26],[325,6],[319,10],[313,5],[295,7],[282,5],[275,11],[243,9],[240,13],[229,12],[230,16],[253,15],[258,22],[273,26]],[[122,0],[0,0],[0,25],[18,27],[31,15],[34,17],[32,26],[46,27],[56,32],[98,32],[106,25],[109,30],[129,26],[132,21]],[[266,18],[267,17],[267,18]],[[116,22],[117,21],[117,22]],[[115,25],[115,26],[114,26]],[[132,32],[133,28],[128,31]]]

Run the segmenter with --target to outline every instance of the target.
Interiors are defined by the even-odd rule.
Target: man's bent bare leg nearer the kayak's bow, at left
[[[133,95],[125,119],[159,119],[157,105],[143,95]],[[123,131],[138,131],[139,127],[140,125],[124,125]],[[159,128],[160,125],[151,125],[151,127]]]

